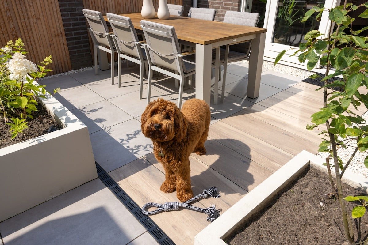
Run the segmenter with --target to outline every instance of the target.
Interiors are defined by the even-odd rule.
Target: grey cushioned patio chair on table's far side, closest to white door
[[[223,22],[255,27],[258,24],[258,21],[259,21],[258,13],[226,11]],[[251,50],[251,43],[252,42],[250,41],[231,45],[228,44],[225,47],[220,48],[219,68],[221,65],[224,66],[222,77],[221,102],[224,102],[227,64],[229,62],[248,60]],[[214,57],[214,55],[215,50],[213,50],[212,52],[212,57]],[[220,78],[219,80],[221,80],[221,69],[219,69],[219,78]],[[214,90],[215,97],[213,99],[213,104],[215,105],[217,104],[217,96],[216,96],[218,94],[217,88],[218,86],[215,86]]]

